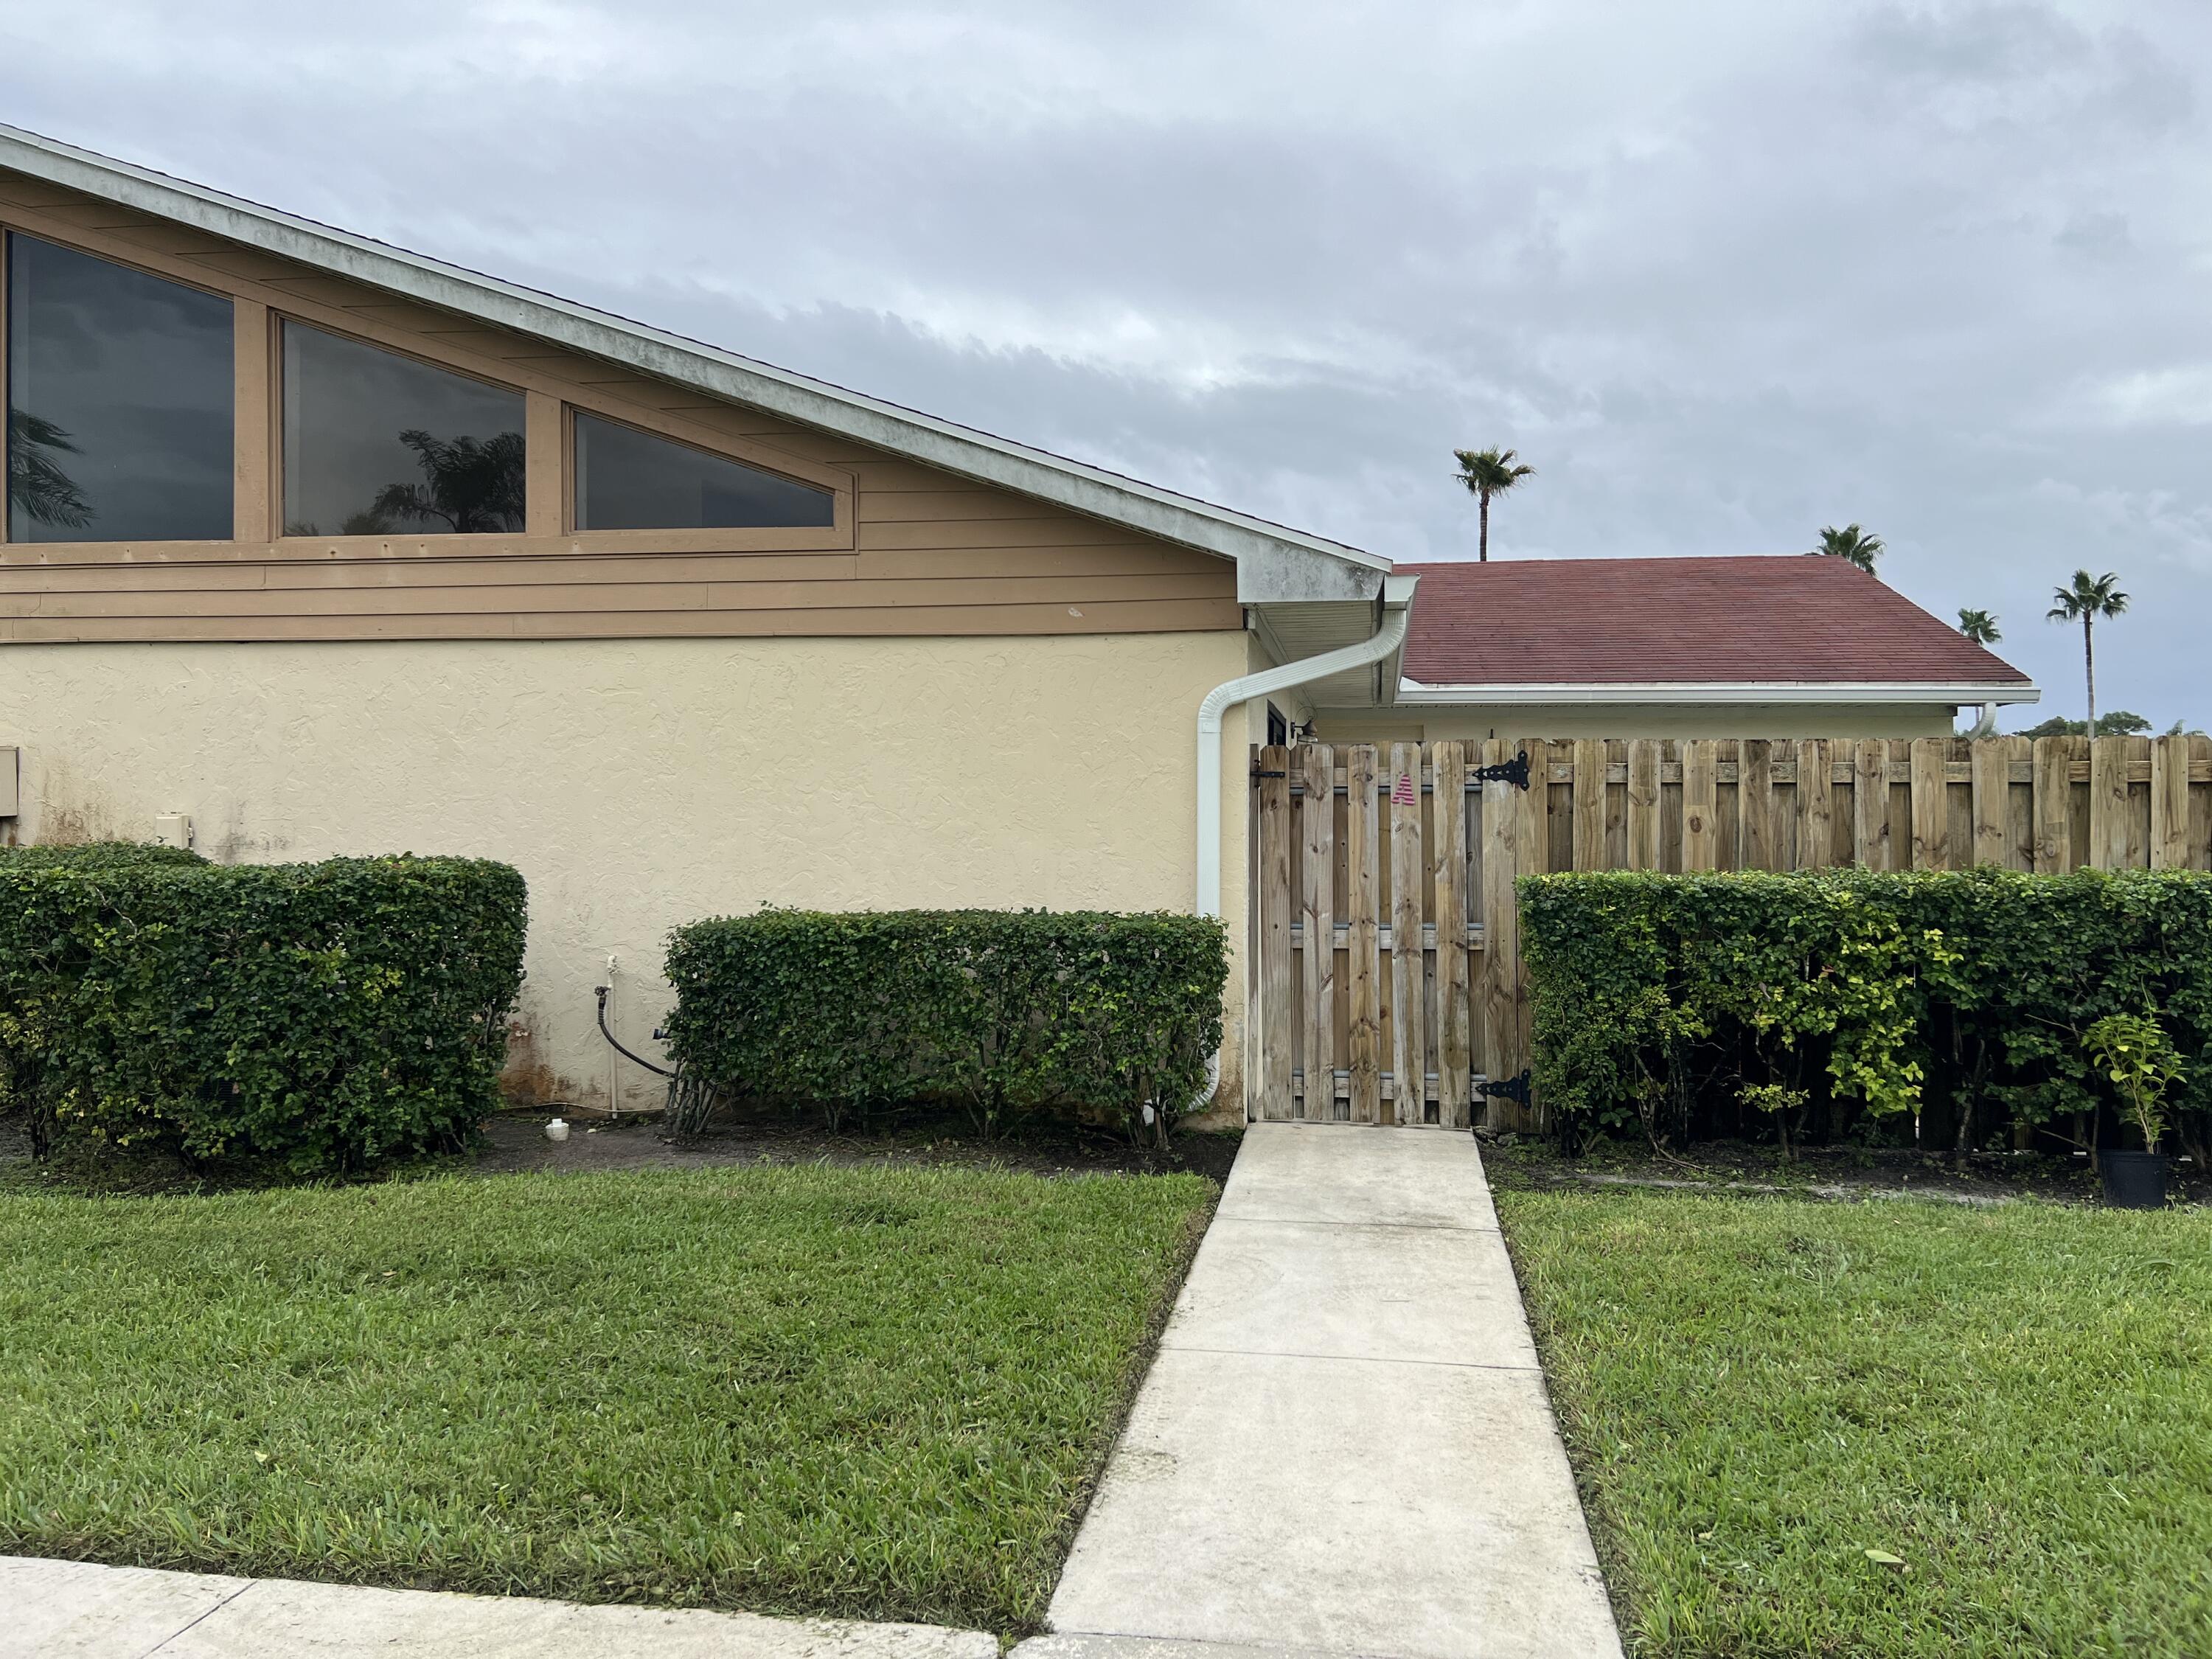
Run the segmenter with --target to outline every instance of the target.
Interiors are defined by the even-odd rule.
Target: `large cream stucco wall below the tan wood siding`
[[[0,646],[22,841],[150,838],[217,860],[471,854],[531,885],[515,1079],[659,1104],[661,940],[761,902],[1192,907],[1199,699],[1250,635]],[[1223,914],[1239,951],[1248,732],[1223,741]],[[4,825],[0,825],[4,827]]]

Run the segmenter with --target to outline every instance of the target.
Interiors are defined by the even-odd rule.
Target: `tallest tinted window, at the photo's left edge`
[[[230,301],[7,239],[11,542],[228,540]]]

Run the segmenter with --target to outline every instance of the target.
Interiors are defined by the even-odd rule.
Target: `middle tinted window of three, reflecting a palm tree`
[[[522,529],[522,394],[283,325],[285,535]]]

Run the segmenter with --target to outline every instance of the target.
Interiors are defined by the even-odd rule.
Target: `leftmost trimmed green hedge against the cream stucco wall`
[[[498,1106],[524,911],[473,858],[0,852],[0,1110],[40,1150],[299,1175],[458,1148]]]

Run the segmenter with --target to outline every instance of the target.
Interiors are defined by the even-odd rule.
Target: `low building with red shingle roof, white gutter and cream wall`
[[[1391,710],[1323,706],[1323,739],[1949,737],[1962,706],[2042,695],[1836,557],[1396,571],[1420,595]]]

